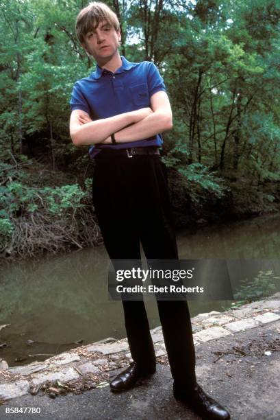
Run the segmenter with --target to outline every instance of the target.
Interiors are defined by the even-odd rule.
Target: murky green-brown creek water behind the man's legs
[[[279,215],[178,235],[181,259],[275,259],[279,262]],[[107,298],[108,260],[103,246],[62,257],[21,261],[0,268],[0,357],[10,365],[24,357],[29,363],[84,344],[112,336],[125,336],[122,305]],[[190,301],[192,316],[223,310],[230,303]],[[154,301],[147,302],[150,327],[160,325]],[[27,340],[46,342],[27,346]]]

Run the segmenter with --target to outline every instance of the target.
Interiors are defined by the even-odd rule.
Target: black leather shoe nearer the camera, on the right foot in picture
[[[193,388],[179,388],[174,384],[174,397],[186,403],[196,414],[204,420],[229,420],[229,412],[209,397],[204,390],[196,384]]]

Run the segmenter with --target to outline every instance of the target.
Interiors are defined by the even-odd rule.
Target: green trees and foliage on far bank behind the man
[[[82,184],[91,170],[86,148],[75,148],[68,132],[73,84],[94,70],[75,36],[75,18],[86,3],[0,3],[1,220],[15,226],[18,218],[44,211],[68,218],[84,211],[88,198],[77,179]],[[195,217],[217,203],[218,211],[224,206],[233,215],[277,209],[279,1],[108,4],[120,16],[121,54],[153,60],[164,77],[174,125],[164,133],[164,160],[177,209],[191,209]],[[53,170],[49,183],[25,182],[25,154]],[[66,176],[63,187],[55,170],[76,179]],[[8,222],[1,223],[11,239]]]

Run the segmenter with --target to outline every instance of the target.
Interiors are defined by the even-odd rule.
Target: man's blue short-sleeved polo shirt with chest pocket
[[[115,73],[101,69],[88,78],[78,80],[72,91],[71,110],[84,110],[92,119],[103,119],[151,106],[150,98],[158,91],[166,91],[164,80],[153,62],[129,62],[121,57],[122,66]],[[116,145],[91,145],[94,157],[103,148],[127,149],[162,145],[162,135]]]

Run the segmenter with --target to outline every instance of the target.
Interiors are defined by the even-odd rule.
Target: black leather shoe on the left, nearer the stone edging
[[[114,393],[133,388],[139,380],[145,379],[155,373],[155,366],[151,368],[139,368],[136,362],[132,362],[125,371],[112,380],[110,383],[111,390]]]

